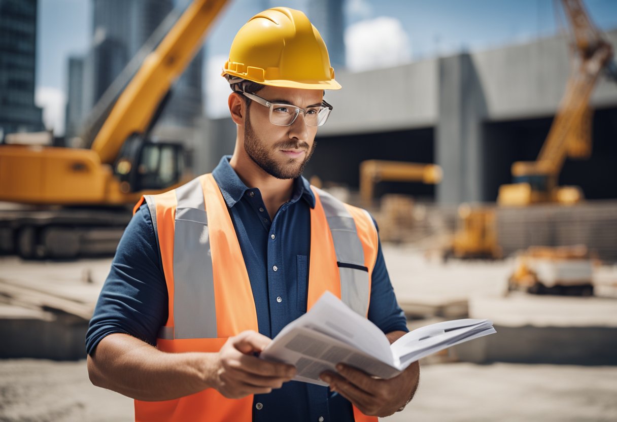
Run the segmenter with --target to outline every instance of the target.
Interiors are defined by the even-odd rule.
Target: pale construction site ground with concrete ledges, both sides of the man
[[[595,297],[505,296],[512,260],[443,263],[391,244],[384,256],[410,328],[470,316],[497,329],[424,359],[415,399],[386,421],[617,420],[617,267],[597,269]],[[109,265],[0,258],[0,421],[133,419],[83,360]],[[28,356],[56,360],[15,358]]]

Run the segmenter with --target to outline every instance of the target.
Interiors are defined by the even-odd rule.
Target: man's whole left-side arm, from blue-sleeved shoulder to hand
[[[140,400],[169,400],[215,388],[225,397],[268,392],[289,381],[291,366],[252,356],[270,342],[245,332],[218,353],[170,354],[156,349],[167,319],[167,285],[146,205],[122,236],[86,336],[94,385]],[[140,339],[143,339],[140,340]]]

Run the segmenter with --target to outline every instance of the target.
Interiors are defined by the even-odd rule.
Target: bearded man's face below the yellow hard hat
[[[323,91],[317,89],[266,86],[256,95],[270,102],[305,109],[321,104]],[[291,126],[270,123],[270,109],[251,101],[244,125],[244,150],[262,170],[278,179],[297,178],[315,151],[317,127],[307,126],[300,112]]]

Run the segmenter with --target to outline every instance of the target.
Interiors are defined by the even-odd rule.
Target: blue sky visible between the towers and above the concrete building
[[[176,1],[180,5],[189,2]],[[236,31],[252,15],[268,6],[306,10],[308,1],[232,0],[207,40],[207,59],[210,57],[215,63],[204,67],[204,86],[213,91],[221,89],[220,81],[210,79],[216,77],[217,68],[222,65],[218,62],[224,60]],[[598,27],[617,28],[617,0],[586,0],[585,4]],[[391,62],[385,65],[453,54],[461,49],[521,43],[553,35],[566,25],[561,8],[555,9],[553,0],[346,0],[345,12],[350,35],[346,42],[363,43],[352,35],[367,30],[373,35],[382,34],[378,48],[395,52],[387,56]],[[37,98],[39,105],[46,106],[46,122],[56,121],[60,133],[67,57],[88,48],[91,14],[89,0],[39,0]],[[377,62],[366,50],[366,46],[358,49],[350,45],[348,65],[362,70]],[[364,56],[360,57],[358,51]],[[216,110],[209,111],[217,114]]]

